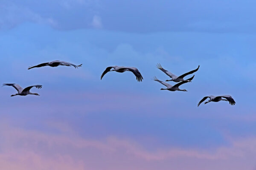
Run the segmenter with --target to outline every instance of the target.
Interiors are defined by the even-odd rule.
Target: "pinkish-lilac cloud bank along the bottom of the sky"
[[[230,139],[216,150],[158,148],[146,150],[131,139],[87,139],[70,127],[51,122],[58,133],[26,130],[2,121],[0,169],[8,170],[240,170],[255,167],[256,137]],[[186,164],[184,163],[186,162]]]

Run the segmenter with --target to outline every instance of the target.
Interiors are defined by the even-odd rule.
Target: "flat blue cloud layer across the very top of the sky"
[[[16,6],[17,10],[6,12],[5,6]],[[44,20],[51,18],[55,21],[54,25],[51,22],[47,24],[61,30],[84,29],[92,26],[102,28],[101,20],[104,20],[105,29],[128,32],[254,33],[256,25],[252,17],[255,15],[253,6],[255,2],[244,3],[242,0],[236,3],[227,0],[218,3],[201,1],[191,3],[189,0],[182,2],[160,0],[158,3],[154,0],[148,0],[147,3],[143,1],[133,3],[129,0],[112,0],[111,3],[108,0],[45,0],[43,5],[35,3],[34,0],[26,0],[26,2],[2,0],[0,20],[2,20],[1,25],[12,23],[12,26],[23,22],[36,22],[26,13],[32,11],[32,14]],[[101,14],[101,17],[96,14]]]

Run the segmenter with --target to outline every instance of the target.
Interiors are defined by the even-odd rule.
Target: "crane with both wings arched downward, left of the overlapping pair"
[[[113,68],[113,70],[111,70]],[[136,76],[136,79],[138,80],[138,82],[141,82],[143,80],[142,75],[140,74],[140,71],[135,68],[135,67],[123,67],[123,66],[111,66],[111,67],[107,67],[106,70],[102,73],[102,76],[100,77],[100,79],[102,79],[102,77],[108,73],[109,71],[116,71],[119,73],[123,73],[125,71],[131,71],[133,72],[133,74]]]

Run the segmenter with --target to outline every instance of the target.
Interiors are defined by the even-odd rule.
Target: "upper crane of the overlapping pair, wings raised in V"
[[[189,75],[189,74],[195,73],[196,71],[198,71],[199,67],[200,67],[200,65],[198,65],[198,68],[197,68],[197,69],[192,70],[192,71],[189,71],[189,72],[187,72],[187,73],[185,73],[185,74],[182,74],[181,76],[178,77],[178,76],[172,74],[170,71],[165,70],[159,63],[157,64],[157,68],[158,68],[158,69],[160,69],[160,70],[163,71],[167,76],[169,76],[169,77],[172,78],[172,79],[170,79],[170,80],[166,80],[166,82],[168,82],[168,81],[174,81],[174,82],[185,81],[185,80],[184,80],[184,77],[187,76],[187,75]],[[195,77],[195,75],[194,75],[193,77],[189,78],[189,79],[186,79],[186,81],[191,81],[194,77]]]

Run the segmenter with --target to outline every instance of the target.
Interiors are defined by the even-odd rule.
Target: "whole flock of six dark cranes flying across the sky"
[[[65,66],[73,66],[75,68],[79,68],[79,67],[81,67],[82,64],[74,65],[74,64],[72,64],[70,62],[64,62],[64,61],[55,60],[55,61],[52,61],[52,62],[45,62],[45,63],[39,64],[39,65],[31,66],[28,69],[36,68],[36,67],[44,67],[44,66],[47,66],[47,65],[50,66],[50,67],[57,67],[59,65],[65,65]],[[199,67],[200,66],[198,65],[198,68],[196,68],[195,70],[189,71],[189,72],[187,72],[185,74],[182,74],[181,76],[176,76],[175,74],[172,74],[171,72],[165,70],[160,64],[157,64],[157,68],[160,69],[161,71],[163,71],[167,76],[169,76],[171,78],[170,80],[166,80],[166,82],[173,81],[173,82],[177,82],[177,84],[170,85],[170,84],[168,84],[166,82],[163,82],[163,81],[157,79],[157,77],[154,77],[153,80],[157,81],[157,82],[160,82],[162,85],[166,86],[166,88],[161,88],[160,90],[186,91],[186,89],[180,89],[179,86],[183,85],[184,83],[187,83],[187,82],[192,82],[192,79],[195,77],[195,75],[193,75],[191,78],[186,79],[186,80],[184,79],[184,77],[186,77],[189,74],[195,73],[196,71],[198,71]],[[117,66],[117,65],[107,67],[105,69],[105,71],[102,73],[101,79],[103,78],[103,76],[105,74],[107,74],[110,71],[116,71],[116,72],[119,72],[119,73],[123,73],[125,71],[131,71],[136,76],[136,79],[137,79],[138,82],[141,82],[143,80],[143,77],[142,77],[142,75],[140,74],[140,71],[137,68],[135,68],[135,67],[123,67],[123,66]],[[28,94],[33,94],[33,95],[40,96],[37,93],[31,93],[30,89],[33,88],[33,87],[38,88],[38,89],[42,88],[42,85],[32,85],[32,86],[29,86],[29,87],[24,88],[24,89],[21,88],[20,85],[18,85],[18,84],[8,84],[8,83],[7,84],[3,84],[3,86],[5,86],[5,85],[12,86],[12,87],[14,87],[17,90],[18,93],[17,94],[13,94],[11,96],[17,96],[17,95],[26,96]],[[230,95],[223,95],[223,96],[205,96],[198,103],[198,106],[202,102],[204,102],[204,100],[206,100],[207,98],[209,98],[209,100],[207,102],[205,102],[204,104],[207,104],[209,102],[219,102],[221,100],[228,101],[230,103],[230,105],[235,105],[236,104],[235,100]]]

